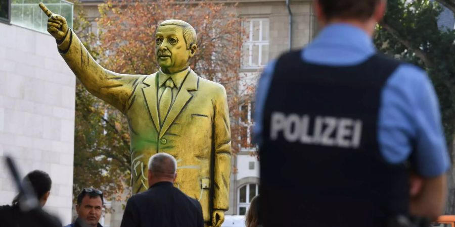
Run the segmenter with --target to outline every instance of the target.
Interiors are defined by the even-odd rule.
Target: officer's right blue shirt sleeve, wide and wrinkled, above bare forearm
[[[382,93],[378,130],[379,146],[389,163],[412,155],[412,167],[423,177],[448,170],[439,104],[423,70],[406,64],[390,76]]]

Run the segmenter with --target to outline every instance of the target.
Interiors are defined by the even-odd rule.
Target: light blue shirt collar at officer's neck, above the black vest
[[[376,51],[373,39],[363,30],[345,23],[326,26],[308,47],[337,46],[338,48],[355,49],[361,54],[372,54]]]

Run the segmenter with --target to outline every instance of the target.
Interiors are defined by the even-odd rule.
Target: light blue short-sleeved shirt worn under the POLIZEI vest
[[[358,65],[376,53],[367,33],[348,24],[332,24],[302,51],[302,60],[328,66]],[[254,139],[261,143],[262,108],[274,74],[270,62],[258,81],[254,114]],[[365,75],[368,76],[368,75]],[[436,177],[450,166],[441,126],[439,104],[426,73],[411,64],[400,65],[385,84],[379,109],[378,141],[389,163],[404,161],[416,141],[416,163],[420,175]]]

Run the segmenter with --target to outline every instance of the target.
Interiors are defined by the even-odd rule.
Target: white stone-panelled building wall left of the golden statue
[[[52,178],[45,209],[71,221],[75,77],[48,35],[0,23],[0,205],[16,195],[3,160]]]

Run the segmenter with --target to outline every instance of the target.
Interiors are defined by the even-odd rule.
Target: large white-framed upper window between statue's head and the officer
[[[257,69],[265,66],[268,62],[268,19],[247,19],[243,26],[247,37],[242,46],[242,68]]]

